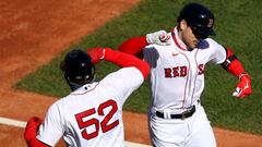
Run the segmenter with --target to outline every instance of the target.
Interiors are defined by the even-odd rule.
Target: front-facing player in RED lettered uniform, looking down
[[[216,147],[200,102],[206,64],[219,64],[240,79],[233,93],[238,98],[252,93],[251,79],[231,49],[207,38],[215,35],[214,15],[207,8],[189,3],[180,11],[177,22],[169,34],[159,30],[134,37],[122,42],[119,50],[135,56],[143,51],[144,60],[151,65],[148,125],[153,146]]]

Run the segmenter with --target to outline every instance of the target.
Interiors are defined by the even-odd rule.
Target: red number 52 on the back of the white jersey
[[[111,109],[108,112],[108,114],[105,115],[104,114],[104,109],[106,109],[108,107],[111,107]],[[100,125],[100,128],[102,128],[103,133],[106,133],[106,132],[110,131],[111,128],[116,127],[119,124],[119,120],[117,120],[117,121],[115,121],[110,124],[108,122],[110,121],[112,115],[117,112],[117,110],[118,110],[117,102],[114,101],[114,100],[108,100],[108,101],[102,103],[97,109],[98,115],[105,115],[105,118],[102,122],[99,122],[99,120],[97,120],[95,118],[90,119],[90,120],[84,120],[84,118],[96,113],[95,108],[92,108],[87,111],[75,114],[75,119],[78,121],[80,130],[84,128],[81,132],[83,138],[91,139],[91,138],[96,137],[99,133],[99,125]],[[95,126],[95,131],[92,132],[92,133],[88,133],[86,127],[88,127],[91,125]]]

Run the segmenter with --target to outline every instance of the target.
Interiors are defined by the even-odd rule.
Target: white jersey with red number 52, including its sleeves
[[[37,138],[50,146],[63,137],[69,147],[123,147],[122,106],[143,81],[138,69],[123,68],[84,85],[49,108]]]

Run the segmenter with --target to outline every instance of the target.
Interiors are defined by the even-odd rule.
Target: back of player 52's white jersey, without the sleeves
[[[103,83],[81,87],[59,103],[64,140],[74,146],[123,146],[122,103]]]

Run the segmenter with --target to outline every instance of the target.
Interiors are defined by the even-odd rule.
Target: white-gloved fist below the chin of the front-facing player
[[[165,30],[158,30],[146,35],[146,40],[148,44],[156,44],[160,46],[170,45],[170,35]]]

